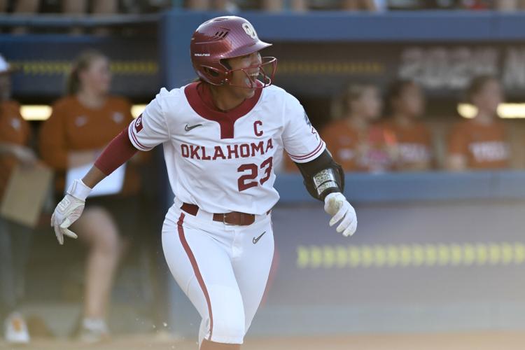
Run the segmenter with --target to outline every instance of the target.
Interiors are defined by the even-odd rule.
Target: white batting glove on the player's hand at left
[[[63,200],[59,202],[51,216],[51,227],[55,229],[58,243],[64,244],[64,235],[71,238],[78,236],[69,226],[73,224],[84,210],[85,198],[91,192],[91,188],[85,186],[82,180],[75,180],[66,191]]]

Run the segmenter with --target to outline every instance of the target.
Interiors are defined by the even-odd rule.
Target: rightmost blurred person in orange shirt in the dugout
[[[478,76],[470,83],[467,94],[477,114],[451,131],[447,168],[462,171],[509,167],[510,144],[505,127],[498,120],[498,106],[503,102],[500,82],[493,76]]]

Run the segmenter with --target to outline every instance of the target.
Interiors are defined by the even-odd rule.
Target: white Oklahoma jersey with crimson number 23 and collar
[[[140,151],[163,144],[176,198],[210,213],[265,214],[279,200],[273,162],[283,149],[298,163],[325,150],[300,102],[276,86],[224,113],[202,101],[197,83],[162,88],[128,133]]]

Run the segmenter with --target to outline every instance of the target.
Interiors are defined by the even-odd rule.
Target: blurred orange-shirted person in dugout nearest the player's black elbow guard
[[[395,159],[392,132],[372,122],[381,114],[381,98],[374,85],[350,85],[342,97],[342,119],[321,132],[333,158],[345,170],[384,172]]]

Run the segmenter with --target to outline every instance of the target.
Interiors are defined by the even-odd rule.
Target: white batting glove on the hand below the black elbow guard
[[[356,232],[356,210],[353,209],[342,193],[330,193],[330,195],[325,197],[325,211],[332,216],[330,226],[335,225],[342,219],[335,230],[343,232],[344,237],[351,236]]]

